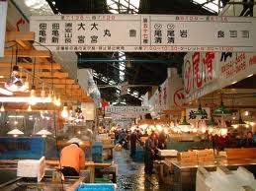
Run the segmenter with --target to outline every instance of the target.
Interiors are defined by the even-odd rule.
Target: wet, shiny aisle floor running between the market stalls
[[[114,161],[119,164],[118,191],[171,191],[170,187],[159,185],[153,175],[145,180],[143,162],[133,161],[129,158],[129,151],[114,152]]]

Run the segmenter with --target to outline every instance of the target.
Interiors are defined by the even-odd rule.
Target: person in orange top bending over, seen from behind
[[[85,168],[85,155],[78,143],[72,143],[62,149],[60,167],[64,176],[79,176],[80,169]]]

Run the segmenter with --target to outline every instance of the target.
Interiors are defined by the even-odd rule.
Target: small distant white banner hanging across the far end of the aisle
[[[108,106],[105,110],[107,113],[122,114],[144,114],[148,113],[147,106]]]

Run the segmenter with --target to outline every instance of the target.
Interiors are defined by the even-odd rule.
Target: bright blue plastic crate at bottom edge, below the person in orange
[[[116,191],[116,184],[82,184],[76,191]]]

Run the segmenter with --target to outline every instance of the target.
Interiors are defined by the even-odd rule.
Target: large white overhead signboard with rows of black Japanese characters
[[[32,16],[36,41],[52,51],[246,51],[256,19],[174,15]],[[35,44],[35,46],[39,46]]]

